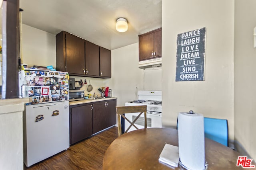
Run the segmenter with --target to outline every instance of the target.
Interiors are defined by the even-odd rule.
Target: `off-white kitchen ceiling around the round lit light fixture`
[[[138,42],[162,27],[162,0],[20,0],[22,23],[56,35],[64,30],[107,49]],[[116,19],[128,31],[116,31]]]

